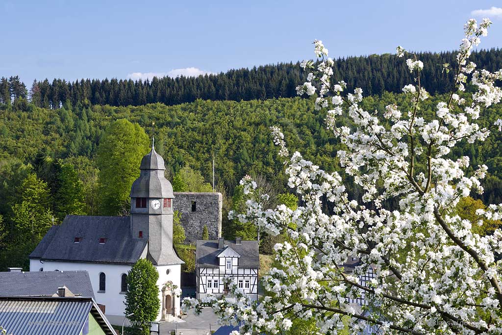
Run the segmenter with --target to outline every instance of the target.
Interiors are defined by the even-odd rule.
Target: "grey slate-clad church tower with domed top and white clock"
[[[148,240],[147,258],[154,265],[183,264],[173,249],[174,195],[164,170],[164,159],[152,145],[131,188],[131,235]]]

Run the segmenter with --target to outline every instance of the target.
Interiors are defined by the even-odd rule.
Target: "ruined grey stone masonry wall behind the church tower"
[[[192,211],[192,201],[195,202],[195,211]],[[207,226],[209,240],[221,237],[222,205],[221,193],[174,192],[173,209],[181,212],[186,243],[202,240],[204,226]]]

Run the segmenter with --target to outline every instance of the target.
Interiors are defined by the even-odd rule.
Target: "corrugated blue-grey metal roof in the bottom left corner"
[[[8,334],[78,335],[89,312],[105,334],[115,330],[91,298],[0,297],[0,324]]]

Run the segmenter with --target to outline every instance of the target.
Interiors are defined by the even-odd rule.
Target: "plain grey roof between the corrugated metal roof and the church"
[[[73,294],[94,298],[87,271],[0,272],[0,296],[52,296],[66,286]]]

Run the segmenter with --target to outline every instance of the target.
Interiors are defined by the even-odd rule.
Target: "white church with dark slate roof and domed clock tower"
[[[86,270],[96,302],[105,305],[113,324],[124,317],[127,273],[142,258],[159,272],[162,306],[157,320],[180,313],[174,289],[180,287],[183,261],[173,249],[173,188],[154,148],[143,157],[140,170],[131,188],[130,216],[68,215],[30,255],[30,271]]]

